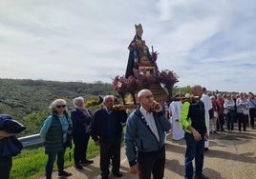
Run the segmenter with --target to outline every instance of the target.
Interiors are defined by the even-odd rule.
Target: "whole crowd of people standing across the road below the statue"
[[[196,85],[191,94],[183,96],[179,93],[175,97],[179,100],[172,101],[166,109],[154,100],[149,89],[141,89],[138,93],[139,108],[129,115],[125,109],[115,107],[117,97],[114,95],[104,96],[103,107],[94,113],[84,107],[85,101],[81,96],[74,99],[74,109],[70,114],[64,99],[54,100],[50,105],[51,114],[40,130],[48,155],[46,179],[52,178],[55,160],[59,177],[72,175],[64,170],[64,155],[73,144],[75,169],[83,169],[94,163],[87,157],[90,137],[100,148],[101,178],[109,177],[110,167],[114,176],[122,177],[120,148],[125,123],[124,149],[130,173],[138,174],[139,179],[148,179],[151,175],[164,178],[165,135],[171,131],[174,140],[184,139],[186,142],[184,178],[206,179],[208,177],[203,174],[203,156],[209,148],[209,135],[220,131],[232,133],[236,130],[234,123],[238,124],[238,132],[245,132],[248,127],[255,129],[256,99],[252,92],[207,93],[205,88]],[[16,133],[0,129],[0,142],[14,135]],[[8,168],[5,177],[8,179],[11,156],[1,161],[10,164],[0,162],[1,169]]]

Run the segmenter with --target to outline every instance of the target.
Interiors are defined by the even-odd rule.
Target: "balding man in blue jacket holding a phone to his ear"
[[[132,174],[139,179],[163,178],[165,165],[165,131],[170,129],[160,103],[148,89],[138,93],[139,109],[130,114],[124,134],[125,152]]]

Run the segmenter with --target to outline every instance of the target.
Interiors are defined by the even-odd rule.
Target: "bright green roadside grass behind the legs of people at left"
[[[70,161],[71,153],[72,161]],[[67,149],[65,153],[65,168],[74,165],[74,148]],[[94,158],[99,154],[97,147],[90,139],[87,149],[88,158]],[[47,155],[44,148],[23,149],[20,154],[12,158],[11,179],[36,179],[44,176]],[[53,170],[57,170],[56,162]]]

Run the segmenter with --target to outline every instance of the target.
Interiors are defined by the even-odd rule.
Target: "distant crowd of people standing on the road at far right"
[[[234,132],[234,123],[238,124],[238,132],[245,132],[246,128],[255,129],[256,99],[252,92],[215,94],[208,93],[212,102],[210,118],[210,132]],[[226,129],[224,129],[226,126]]]

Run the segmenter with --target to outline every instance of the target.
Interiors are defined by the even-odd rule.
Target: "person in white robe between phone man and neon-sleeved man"
[[[176,95],[175,97],[181,97],[181,95]],[[169,106],[169,113],[172,119],[172,138],[174,140],[181,140],[184,138],[184,130],[181,127],[181,108],[181,100],[172,101]]]

